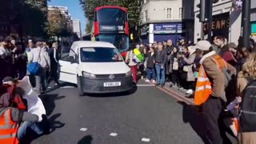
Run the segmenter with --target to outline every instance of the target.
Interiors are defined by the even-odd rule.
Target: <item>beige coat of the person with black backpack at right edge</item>
[[[242,91],[246,88],[248,81],[245,77],[242,77],[241,72],[238,74],[237,91],[239,96],[242,95]],[[246,132],[238,134],[238,144],[255,144],[256,132]]]

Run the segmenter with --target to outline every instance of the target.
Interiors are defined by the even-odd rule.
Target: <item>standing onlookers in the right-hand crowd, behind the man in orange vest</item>
[[[198,42],[200,42],[199,38]],[[202,41],[202,45],[207,45],[207,43]],[[211,46],[217,54],[220,54],[238,71],[242,70],[242,64],[246,62],[246,58],[252,51],[246,47],[238,50],[238,46],[234,42],[228,44],[226,38],[222,36],[215,36]],[[170,82],[170,87],[187,90],[186,94],[189,96],[194,94],[198,70],[201,66],[200,60],[203,56],[202,50],[198,50],[190,42],[185,42],[183,38],[179,39],[176,46],[172,40],[167,40],[154,42],[152,46],[138,45],[130,48],[132,50],[138,48],[144,54],[144,62],[131,61],[130,64],[145,67],[146,82],[153,82],[157,86],[165,86],[166,82]],[[139,68],[139,71],[143,74],[143,69]]]

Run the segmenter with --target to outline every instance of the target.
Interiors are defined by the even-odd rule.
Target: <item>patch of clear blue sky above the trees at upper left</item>
[[[86,18],[79,0],[50,0],[48,6],[67,6],[71,17],[80,19],[82,34],[85,34]]]

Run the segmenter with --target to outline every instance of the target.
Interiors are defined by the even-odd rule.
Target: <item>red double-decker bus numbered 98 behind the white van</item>
[[[95,41],[114,44],[124,56],[129,49],[129,25],[126,8],[120,6],[96,7],[92,36]]]

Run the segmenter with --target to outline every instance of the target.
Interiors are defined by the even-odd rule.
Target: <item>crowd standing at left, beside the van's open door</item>
[[[30,74],[31,62],[40,64],[37,74]],[[14,37],[0,38],[0,64],[5,68],[0,71],[0,85],[7,76],[21,80],[30,75],[35,90],[42,94],[52,80],[58,84],[58,43],[38,41],[34,44],[28,40],[24,49]]]

